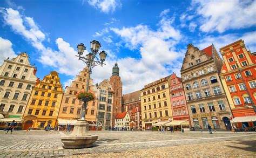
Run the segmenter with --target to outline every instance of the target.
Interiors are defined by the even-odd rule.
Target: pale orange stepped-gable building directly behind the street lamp
[[[83,102],[77,99],[76,94],[79,91],[86,90],[88,76],[89,76],[88,68],[84,68],[76,76],[75,80],[72,81],[71,85],[65,87],[65,92],[63,94],[63,99],[60,105],[60,111],[58,115],[59,125],[64,126],[70,123],[70,125],[72,126],[80,118]],[[88,90],[89,92],[93,92],[94,86],[92,83],[93,81],[90,78],[89,90]],[[89,101],[86,107],[85,119],[91,125],[90,128],[92,127],[92,125],[94,127],[96,126],[96,114],[97,114],[96,100]]]

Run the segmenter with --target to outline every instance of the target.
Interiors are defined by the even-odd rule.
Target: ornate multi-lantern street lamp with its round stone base
[[[86,47],[83,43],[77,45],[78,60],[84,61],[89,70],[89,75],[87,78],[87,86],[85,92],[88,92],[90,75],[92,73],[92,68],[97,65],[105,65],[103,62],[106,59],[107,54],[105,51],[99,53],[100,43],[97,40],[91,42],[91,52],[83,56]],[[99,54],[99,58],[97,57]],[[97,139],[97,135],[90,135],[87,133],[89,130],[89,123],[85,120],[85,111],[87,107],[87,101],[84,101],[82,106],[82,113],[80,119],[75,123],[73,132],[69,136],[62,136],[62,142],[64,143],[64,148],[87,148],[91,147]]]

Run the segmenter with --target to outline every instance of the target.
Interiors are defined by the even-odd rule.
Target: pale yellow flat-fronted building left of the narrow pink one
[[[146,130],[152,128],[158,122],[173,120],[169,94],[170,77],[171,75],[154,81],[140,90],[142,127]],[[159,126],[161,125],[159,124]]]

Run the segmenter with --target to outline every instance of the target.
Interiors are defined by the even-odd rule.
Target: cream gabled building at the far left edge
[[[0,122],[22,121],[32,87],[38,81],[36,71],[26,52],[4,60],[0,66]]]

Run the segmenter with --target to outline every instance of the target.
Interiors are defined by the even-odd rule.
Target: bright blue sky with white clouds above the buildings
[[[0,1],[0,64],[27,52],[43,79],[50,71],[69,85],[85,67],[78,43],[98,40],[106,65],[93,68],[94,83],[120,67],[123,94],[172,72],[180,75],[186,46],[216,49],[243,39],[256,51],[256,1]]]

